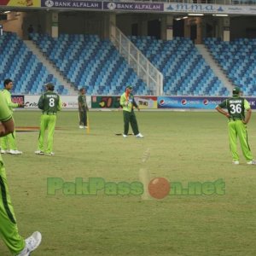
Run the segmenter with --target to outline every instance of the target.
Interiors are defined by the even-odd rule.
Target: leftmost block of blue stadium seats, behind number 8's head
[[[40,94],[48,82],[55,84],[59,94],[68,94],[68,90],[49,73],[15,33],[3,33],[0,49],[0,80],[12,79],[15,94]]]

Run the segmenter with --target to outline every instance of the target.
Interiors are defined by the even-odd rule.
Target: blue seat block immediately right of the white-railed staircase
[[[130,39],[163,73],[166,95],[229,95],[189,38],[163,41],[131,36]]]

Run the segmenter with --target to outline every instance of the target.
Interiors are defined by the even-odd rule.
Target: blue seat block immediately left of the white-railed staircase
[[[32,40],[74,86],[89,95],[119,95],[132,84],[137,95],[147,95],[142,79],[129,67],[109,40],[96,35],[61,34],[59,38],[34,33]]]

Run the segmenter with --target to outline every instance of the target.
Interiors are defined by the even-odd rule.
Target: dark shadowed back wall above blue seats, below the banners
[[[150,21],[159,20],[160,26],[156,28],[155,35],[166,39],[166,27],[172,27],[173,36],[190,38],[190,27],[196,26],[197,38],[195,44],[201,44],[202,38],[215,37],[224,38],[224,18],[205,15],[204,17],[190,17],[186,20],[178,20],[175,14],[150,14],[150,13],[110,13],[102,11],[78,11],[66,10],[58,12],[45,9],[33,9],[26,12],[12,12],[7,20],[0,20],[3,30],[16,32],[20,38],[27,39],[28,26],[32,25],[34,32],[48,32],[51,34],[52,15],[58,15],[58,32],[70,34],[97,34],[100,38],[108,38],[109,22],[115,20],[116,26],[125,35],[147,36],[152,35],[154,27]],[[182,15],[180,15],[182,16]],[[168,22],[166,22],[168,17]],[[230,40],[234,38],[255,38],[256,17],[255,15],[230,16]],[[172,20],[172,21],[171,21]],[[168,39],[168,38],[167,38]]]

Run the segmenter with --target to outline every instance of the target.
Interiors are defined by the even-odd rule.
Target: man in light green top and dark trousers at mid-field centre
[[[123,108],[124,115],[123,137],[128,137],[129,123],[131,123],[131,129],[133,131],[133,134],[138,138],[143,138],[143,135],[138,130],[137,119],[133,110],[134,107],[137,108],[137,110],[140,110],[140,108],[137,106],[137,103],[134,100],[131,85],[126,87],[125,92],[120,97],[120,105]]]

